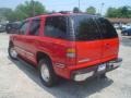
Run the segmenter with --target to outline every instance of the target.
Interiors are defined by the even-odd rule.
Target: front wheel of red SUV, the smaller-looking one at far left
[[[12,60],[17,60],[17,53],[16,53],[13,45],[9,45],[8,52],[9,52],[9,57],[10,57]]]

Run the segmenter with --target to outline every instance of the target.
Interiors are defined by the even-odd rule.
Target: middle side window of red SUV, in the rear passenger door
[[[29,27],[29,35],[38,35],[40,27],[40,20],[33,20]]]

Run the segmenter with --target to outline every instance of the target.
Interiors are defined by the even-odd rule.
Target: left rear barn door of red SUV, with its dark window
[[[73,28],[76,46],[76,64],[94,65],[100,62],[103,41],[99,29],[88,15],[74,15]]]

